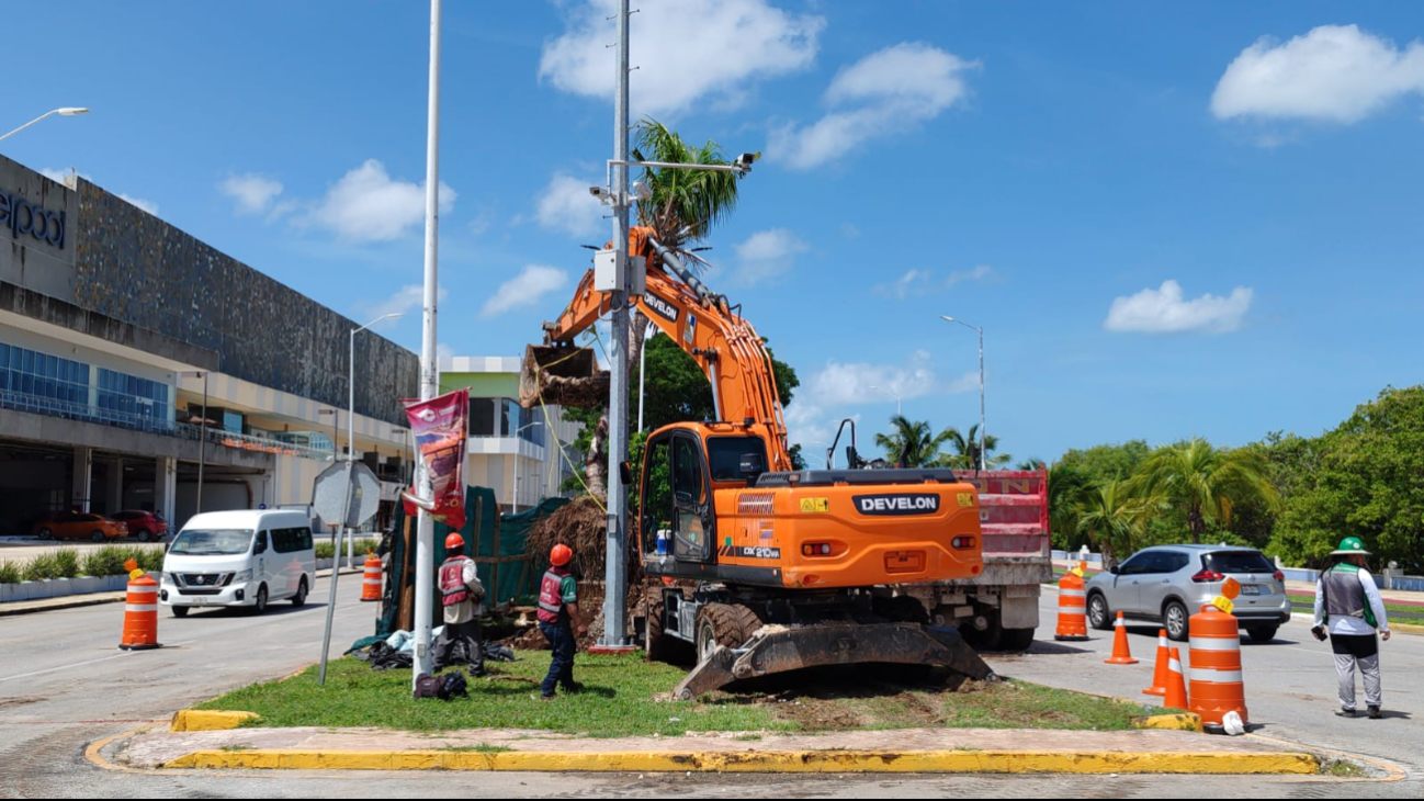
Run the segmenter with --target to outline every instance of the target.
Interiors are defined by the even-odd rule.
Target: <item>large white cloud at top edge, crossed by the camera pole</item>
[[[540,80],[561,91],[612,98],[614,0],[571,3],[567,30],[544,43]],[[629,95],[638,114],[665,117],[711,100],[735,107],[763,78],[816,57],[823,17],[790,14],[766,0],[659,0],[631,19]]]

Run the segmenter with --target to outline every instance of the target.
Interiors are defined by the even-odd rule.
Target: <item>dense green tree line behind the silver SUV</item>
[[[1424,573],[1424,386],[1388,388],[1314,438],[1069,450],[1048,487],[1055,546],[1088,543],[1109,563],[1151,544],[1225,542],[1319,566],[1356,536],[1376,570]]]

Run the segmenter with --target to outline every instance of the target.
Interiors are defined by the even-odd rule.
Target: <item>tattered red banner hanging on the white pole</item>
[[[416,507],[451,529],[464,527],[464,452],[468,436],[470,391],[457,389],[430,400],[402,400],[410,432],[426,465],[424,482],[400,496],[406,515]]]

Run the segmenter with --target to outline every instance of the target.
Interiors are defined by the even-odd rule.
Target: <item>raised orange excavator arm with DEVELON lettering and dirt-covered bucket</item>
[[[776,392],[772,356],[766,352],[766,345],[756,329],[733,311],[725,296],[712,294],[675,254],[654,239],[651,228],[635,227],[629,231],[628,254],[644,257],[646,265],[646,291],[634,298],[634,304],[692,356],[708,376],[718,420],[765,426],[769,433],[766,443],[769,467],[775,472],[790,470],[786,420]],[[525,359],[525,383],[533,379],[538,386],[547,388],[551,381],[558,382],[560,378],[555,375],[531,376],[528,372],[541,372],[547,365],[577,358],[568,346],[575,336],[591,329],[608,314],[609,305],[609,295],[594,289],[594,271],[590,269],[578,282],[574,299],[558,319],[544,324],[545,342],[560,348],[544,352],[531,348],[531,355],[535,358]],[[584,359],[587,362],[591,356]],[[557,372],[557,368],[553,371]],[[568,375],[574,372],[570,371]],[[521,400],[525,405],[530,403],[528,395],[531,393],[521,391]],[[582,403],[571,403],[568,398],[574,395],[571,392],[555,399],[547,392],[533,395],[545,402],[587,405],[587,396],[577,399]]]

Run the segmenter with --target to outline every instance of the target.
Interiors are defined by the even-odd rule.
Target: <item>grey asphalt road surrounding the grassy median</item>
[[[356,601],[359,582],[342,577],[333,656],[372,630],[372,604]],[[0,795],[4,797],[826,797],[904,798],[924,795],[978,797],[1302,797],[1417,798],[1417,777],[1405,781],[1351,781],[1262,777],[897,777],[897,775],[627,775],[627,774],[460,774],[449,772],[201,772],[115,771],[84,757],[94,741],[130,731],[147,721],[251,681],[275,678],[309,664],[319,654],[326,580],[302,610],[275,604],[263,617],[199,611],[184,620],[164,616],[158,651],[115,650],[122,610],[118,604],[56,610],[0,621]],[[1049,599],[1048,606],[1052,604]],[[1051,617],[1048,617],[1051,620]],[[1297,631],[1299,629],[1299,631]],[[1283,630],[1300,640],[1303,626]],[[1141,654],[1151,637],[1134,636]],[[1314,644],[1313,640],[1310,641]],[[1022,657],[991,657],[1005,674],[1135,696],[1149,667],[1108,668],[1099,648],[1108,640],[1067,650],[1040,643]],[[1398,637],[1388,644],[1386,706],[1408,710],[1407,666],[1415,670],[1424,639]],[[1397,653],[1396,653],[1397,651]],[[1391,656],[1393,654],[1393,656]],[[1272,667],[1279,666],[1279,667]],[[1253,681],[1250,708],[1263,733],[1347,751],[1380,754],[1418,770],[1420,724],[1411,717],[1386,721],[1337,721],[1330,715],[1333,678],[1329,654],[1299,641],[1246,647],[1247,681],[1266,670],[1282,670]],[[1391,671],[1396,680],[1391,683]],[[1256,688],[1262,686],[1259,690]],[[1272,687],[1265,687],[1272,684]],[[1373,731],[1371,731],[1373,730]],[[1378,731],[1376,734],[1374,731]]]

